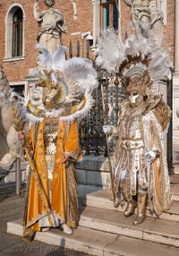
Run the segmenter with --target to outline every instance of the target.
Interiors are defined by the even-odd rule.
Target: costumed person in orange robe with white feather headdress
[[[60,226],[72,234],[78,225],[75,163],[82,156],[78,121],[90,110],[91,93],[98,86],[89,59],[66,61],[62,46],[53,56],[43,46],[37,47],[41,53],[36,68],[39,80],[21,110],[30,128],[19,133],[30,162],[22,223],[26,241],[50,227]],[[41,94],[37,97],[38,88]]]

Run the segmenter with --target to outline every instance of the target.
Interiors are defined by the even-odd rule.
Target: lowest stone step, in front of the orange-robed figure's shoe
[[[7,232],[22,235],[21,220],[9,222]],[[97,256],[178,256],[179,252],[174,246],[146,242],[81,226],[74,230],[72,235],[66,235],[58,229],[37,233],[35,240],[62,246],[67,252],[86,252]]]

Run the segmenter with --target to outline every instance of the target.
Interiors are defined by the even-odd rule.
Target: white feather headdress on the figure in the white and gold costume
[[[172,62],[166,49],[154,40],[130,37],[122,42],[112,31],[103,31],[98,40],[96,64],[109,73],[125,76],[148,73],[150,84],[158,87],[159,81],[171,79]],[[157,91],[157,90],[156,90]]]

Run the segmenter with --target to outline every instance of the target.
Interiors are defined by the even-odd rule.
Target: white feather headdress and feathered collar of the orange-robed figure
[[[98,87],[97,72],[92,62],[82,57],[66,60],[66,48],[63,46],[60,46],[54,55],[40,44],[37,44],[37,48],[40,54],[37,58],[36,74],[39,80],[36,86],[44,88],[51,86],[52,89],[58,90],[58,104],[51,109],[41,104],[38,110],[36,106],[31,105],[30,97],[26,96],[24,114],[27,119],[36,121],[45,116],[55,116],[60,120],[72,122],[73,119],[83,118],[93,105],[92,92]],[[44,92],[41,95],[41,98],[43,97]],[[33,110],[34,107],[36,110]]]

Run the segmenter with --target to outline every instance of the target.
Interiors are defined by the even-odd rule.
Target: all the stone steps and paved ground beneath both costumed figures
[[[173,175],[170,180],[174,204],[163,218],[147,217],[135,227],[131,224],[134,216],[125,218],[120,209],[112,210],[106,190],[86,191],[81,198],[80,226],[72,235],[54,229],[38,233],[36,241],[28,245],[21,241],[23,192],[15,197],[14,189],[0,186],[0,256],[87,255],[84,252],[98,256],[178,256],[179,176]],[[10,234],[6,234],[7,223]]]

